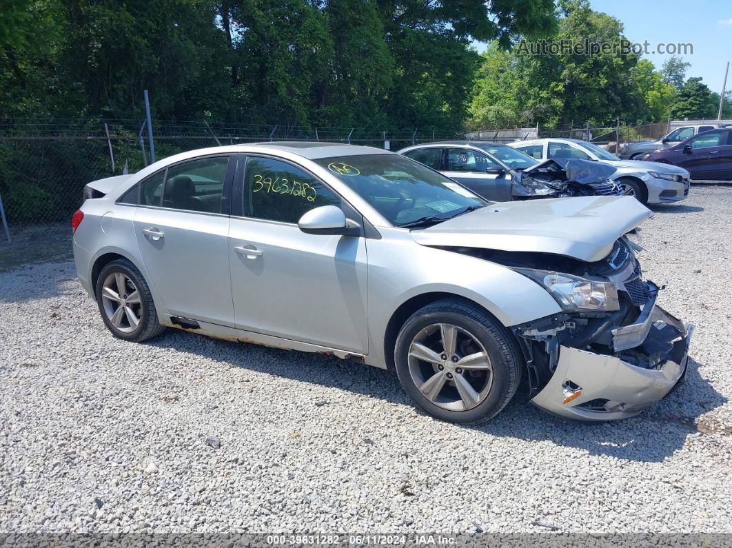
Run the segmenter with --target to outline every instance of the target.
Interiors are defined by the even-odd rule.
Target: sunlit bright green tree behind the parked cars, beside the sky
[[[563,16],[550,42],[578,44],[628,43],[619,20],[595,12],[586,0],[560,3]],[[616,116],[649,116],[646,105],[658,108],[668,89],[656,86],[647,75],[647,66],[635,72],[638,56],[633,53],[600,51],[587,54],[564,48],[556,55],[532,55],[528,48],[514,48],[505,56],[498,48],[488,48],[471,102],[471,127],[511,125],[545,126],[609,123]],[[630,85],[634,75],[651,93],[641,93]],[[657,80],[657,79],[656,79]],[[505,86],[505,89],[501,89]]]

